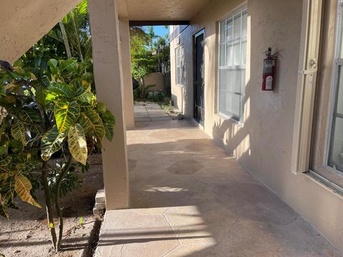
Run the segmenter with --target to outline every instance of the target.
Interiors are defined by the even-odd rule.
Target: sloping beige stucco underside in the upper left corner
[[[1,0],[0,60],[14,62],[80,0]]]

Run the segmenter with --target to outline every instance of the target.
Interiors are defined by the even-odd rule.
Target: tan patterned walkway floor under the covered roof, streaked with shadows
[[[96,256],[342,256],[189,121],[127,143],[132,208],[106,211]]]

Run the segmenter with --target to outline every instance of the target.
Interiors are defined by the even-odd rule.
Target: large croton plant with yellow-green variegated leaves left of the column
[[[9,217],[16,198],[38,208],[45,195],[48,229],[61,248],[60,198],[79,186],[87,158],[113,137],[114,116],[97,102],[88,64],[50,59],[46,69],[0,61],[0,214]],[[56,236],[53,213],[59,218]]]

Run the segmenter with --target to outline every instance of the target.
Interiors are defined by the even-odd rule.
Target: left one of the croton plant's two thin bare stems
[[[41,180],[44,188],[44,195],[45,195],[45,205],[46,205],[46,216],[48,218],[48,226],[50,229],[51,234],[51,241],[52,245],[54,246],[54,250],[56,251],[56,231],[54,226],[54,218],[52,217],[52,206],[51,206],[51,198],[50,198],[50,192],[49,192],[49,182],[48,182],[48,171],[47,171],[47,165],[48,163],[46,161],[43,162],[43,166],[41,168]]]

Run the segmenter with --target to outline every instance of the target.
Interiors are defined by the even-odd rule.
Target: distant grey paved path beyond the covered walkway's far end
[[[172,118],[161,109],[159,104],[135,104],[134,121],[171,121]]]

